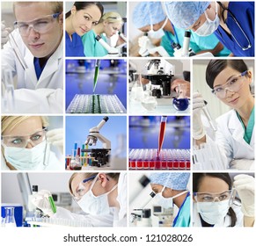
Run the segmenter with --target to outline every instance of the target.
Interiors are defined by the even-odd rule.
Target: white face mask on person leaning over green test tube
[[[94,180],[91,183],[89,191],[84,194],[82,199],[77,201],[77,204],[81,207],[84,213],[89,213],[91,215],[108,214],[110,213],[110,208],[108,204],[107,195],[110,192],[113,192],[113,190],[117,187],[117,185],[114,185],[110,192],[106,192],[96,197],[91,190],[97,180],[98,180],[98,176],[94,178]]]

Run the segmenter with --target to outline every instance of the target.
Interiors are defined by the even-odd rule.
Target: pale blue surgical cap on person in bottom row
[[[172,190],[187,190],[187,183],[190,174],[187,172],[158,172],[150,175],[150,183],[163,185]]]

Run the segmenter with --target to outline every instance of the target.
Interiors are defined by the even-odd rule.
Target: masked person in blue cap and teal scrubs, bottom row
[[[173,227],[190,226],[190,193],[187,189],[190,174],[187,172],[165,172],[150,175],[150,185],[157,203],[163,208],[179,207]]]

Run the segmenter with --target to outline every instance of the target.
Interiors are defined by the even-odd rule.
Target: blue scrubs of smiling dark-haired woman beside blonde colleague
[[[84,56],[84,46],[81,37],[77,33],[72,34],[72,41],[66,33],[66,56]]]

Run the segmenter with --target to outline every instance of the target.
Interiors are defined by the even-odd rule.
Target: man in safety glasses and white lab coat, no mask
[[[41,98],[42,105],[49,96],[58,96],[56,99],[62,104],[62,3],[15,2],[13,12],[14,30],[6,33],[5,28],[3,32],[2,25],[2,36],[8,34],[9,40],[2,49],[2,80],[4,71],[17,76],[14,89],[23,90],[15,90],[16,99],[23,97],[37,102]],[[51,108],[40,111],[51,112]]]

